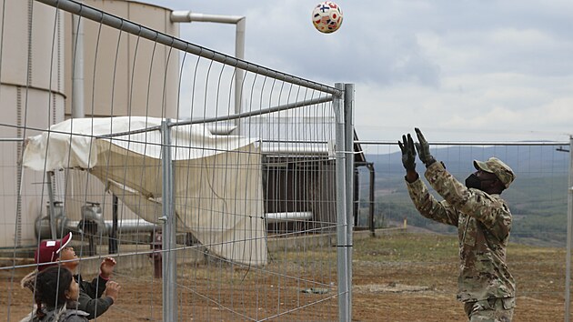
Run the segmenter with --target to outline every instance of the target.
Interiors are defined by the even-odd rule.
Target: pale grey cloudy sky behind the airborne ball
[[[338,0],[344,23],[314,29],[319,1],[149,0],[246,16],[246,60],[356,85],[362,140],[568,141],[573,134],[570,0]],[[233,55],[235,26],[181,25],[181,37]]]

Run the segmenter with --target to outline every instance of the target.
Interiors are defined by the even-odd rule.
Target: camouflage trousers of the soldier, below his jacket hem
[[[515,306],[514,297],[491,298],[467,302],[464,305],[464,310],[469,322],[511,322]]]

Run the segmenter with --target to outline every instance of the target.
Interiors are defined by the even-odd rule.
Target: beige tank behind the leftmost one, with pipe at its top
[[[90,5],[127,20],[178,37],[171,10],[141,2],[85,0]],[[179,55],[165,45],[82,19],[84,24],[85,116],[177,117]],[[66,15],[66,28],[72,28]],[[66,79],[72,79],[75,42],[65,34]],[[72,82],[65,94],[72,95]],[[65,114],[72,115],[72,100]]]

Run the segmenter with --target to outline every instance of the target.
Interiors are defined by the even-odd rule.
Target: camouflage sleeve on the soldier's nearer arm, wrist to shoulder
[[[447,203],[467,216],[476,218],[499,240],[509,235],[511,213],[501,198],[467,188],[448,173],[440,162],[427,167],[426,178]]]

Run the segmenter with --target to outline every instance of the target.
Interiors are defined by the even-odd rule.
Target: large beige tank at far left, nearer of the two
[[[3,20],[2,20],[3,19]],[[63,14],[34,1],[7,0],[0,5],[0,137],[34,136],[64,120]],[[24,129],[21,126],[27,126]],[[0,247],[30,245],[40,212],[44,174],[21,173],[22,142],[3,141],[0,179]],[[22,188],[20,188],[22,186]],[[21,191],[21,195],[18,194]],[[45,201],[45,200],[44,200]]]

